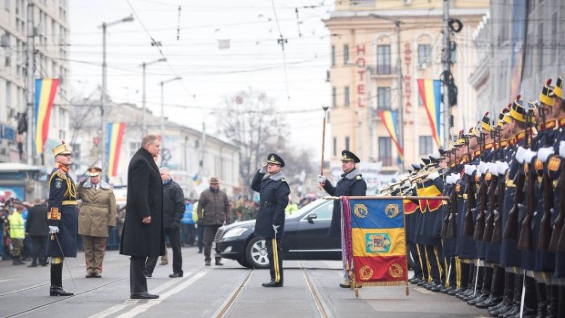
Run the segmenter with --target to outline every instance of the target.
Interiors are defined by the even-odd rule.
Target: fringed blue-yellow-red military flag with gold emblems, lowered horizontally
[[[349,210],[351,280],[357,286],[408,286],[402,198],[349,199]]]

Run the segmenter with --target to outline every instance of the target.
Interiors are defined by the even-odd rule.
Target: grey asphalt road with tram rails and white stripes
[[[169,249],[169,255],[172,255]],[[2,317],[486,317],[485,310],[457,298],[410,285],[363,287],[359,298],[341,282],[341,262],[285,261],[284,287],[264,288],[268,270],[205,267],[194,247],[182,249],[182,278],[169,278],[172,264],[157,265],[147,279],[157,300],[129,299],[129,259],[108,251],[102,278],[84,278],[84,256],[67,259],[63,286],[73,297],[49,297],[49,267],[28,268],[0,262]],[[212,261],[212,264],[214,262]]]

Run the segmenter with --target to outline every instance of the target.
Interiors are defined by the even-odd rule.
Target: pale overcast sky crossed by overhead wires
[[[171,105],[165,115],[197,129],[205,118],[207,130],[214,131],[214,115],[206,114],[219,107],[224,96],[251,87],[275,99],[292,129],[290,140],[319,156],[321,106],[331,97],[325,82],[330,39],[321,20],[329,16],[332,0],[97,0],[69,1],[69,6],[74,96],[88,96],[101,85],[98,25],[133,13],[133,22],[108,27],[107,87],[113,101],[141,105],[140,64],[162,57],[159,48],[151,46],[153,38],[162,43],[168,59],[147,67],[147,106],[154,114],[160,115],[158,83],[181,76],[182,81],[164,86],[164,103]],[[288,38],[286,76],[279,34]],[[218,40],[230,40],[230,48],[220,50]],[[201,109],[172,107],[175,104]]]

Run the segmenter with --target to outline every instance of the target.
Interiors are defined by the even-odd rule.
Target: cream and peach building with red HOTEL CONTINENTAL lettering
[[[400,104],[403,167],[437,153],[417,80],[439,79],[443,71],[442,7],[441,0],[336,1],[325,20],[332,34],[328,145],[332,164],[338,162],[342,149],[349,149],[363,162],[382,162],[385,173],[397,172],[401,167],[397,150],[378,114],[399,110]],[[488,7],[488,0],[450,2],[451,18],[463,23],[462,31],[451,37],[458,44],[451,54],[458,86],[458,104],[451,108],[455,132],[468,129],[479,116],[468,79],[476,63],[473,30]]]

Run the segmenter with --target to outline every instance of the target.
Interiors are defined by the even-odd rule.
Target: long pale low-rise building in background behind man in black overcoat
[[[109,181],[127,184],[129,160],[141,147],[143,110],[134,104],[110,103],[107,120],[125,124],[119,152],[118,169]],[[82,175],[92,165],[101,165],[101,117],[99,105],[76,104],[71,107],[71,148],[73,171]],[[146,114],[147,132],[160,136],[160,117]],[[229,197],[238,194],[240,178],[237,147],[198,130],[165,120],[162,156],[159,167],[171,169],[173,178],[184,190],[185,197],[198,198],[199,190],[210,177],[220,179],[220,189]]]

